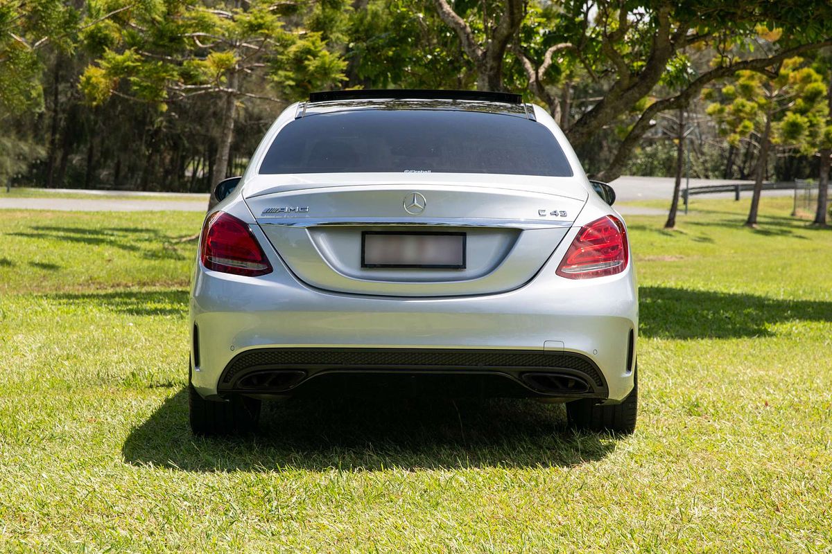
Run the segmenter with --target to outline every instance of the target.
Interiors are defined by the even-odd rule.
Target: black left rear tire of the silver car
[[[260,421],[260,400],[232,396],[225,402],[205,400],[188,383],[188,409],[191,431],[201,436],[249,433]]]

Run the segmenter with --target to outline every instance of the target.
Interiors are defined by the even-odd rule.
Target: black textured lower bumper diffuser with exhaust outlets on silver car
[[[217,385],[231,394],[510,396],[606,400],[586,356],[554,351],[264,348],[235,355]]]

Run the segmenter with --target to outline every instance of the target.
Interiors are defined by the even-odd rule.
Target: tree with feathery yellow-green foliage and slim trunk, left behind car
[[[294,101],[344,78],[345,62],[327,50],[321,32],[301,24],[306,6],[266,0],[204,3],[172,0],[131,14],[121,26],[97,30],[103,52],[81,87],[92,105],[111,96],[171,103],[213,96],[220,125],[209,208],[225,179],[240,103]],[[263,85],[272,95],[264,95]]]

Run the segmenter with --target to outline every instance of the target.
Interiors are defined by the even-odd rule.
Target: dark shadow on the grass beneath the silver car
[[[188,427],[187,392],[127,437],[126,463],[215,471],[409,471],[569,467],[607,456],[603,434],[566,427],[559,405],[533,400],[321,399],[263,404],[260,430],[204,439]]]

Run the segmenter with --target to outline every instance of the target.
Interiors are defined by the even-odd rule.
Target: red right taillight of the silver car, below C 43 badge
[[[584,225],[557,267],[567,279],[589,279],[621,273],[630,259],[624,223],[605,215]]]

